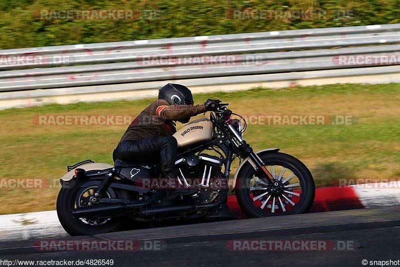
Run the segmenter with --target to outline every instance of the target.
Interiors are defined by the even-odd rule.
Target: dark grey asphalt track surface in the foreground
[[[35,239],[0,243],[4,260],[113,259],[114,266],[362,266],[361,260],[400,259],[398,207],[354,209],[279,217],[243,219],[158,227],[144,230],[70,237],[68,240],[137,240],[135,251],[40,251]],[[39,239],[39,238],[37,238]],[[57,240],[61,240],[58,238]],[[141,250],[142,242],[156,241],[157,250]],[[230,241],[229,241],[230,240]],[[328,246],[296,250],[233,251],[248,248],[243,240],[327,242]],[[241,241],[240,241],[241,240]],[[237,243],[239,242],[239,243]],[[337,244],[341,244],[341,246]],[[346,244],[343,246],[343,244]],[[248,243],[247,243],[248,244]],[[333,246],[329,245],[332,244]],[[268,247],[268,246],[267,246]],[[294,245],[293,245],[294,247]],[[279,247],[277,247],[279,248]],[[254,246],[250,247],[254,249]],[[257,247],[255,247],[257,249]],[[288,250],[287,250],[288,249]],[[367,264],[369,265],[369,263]],[[103,265],[107,266],[107,265]]]

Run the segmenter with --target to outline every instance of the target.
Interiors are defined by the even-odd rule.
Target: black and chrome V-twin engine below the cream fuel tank
[[[179,180],[183,185],[201,188],[194,196],[199,203],[214,200],[220,190],[220,174],[223,162],[208,154],[189,155],[175,162]]]

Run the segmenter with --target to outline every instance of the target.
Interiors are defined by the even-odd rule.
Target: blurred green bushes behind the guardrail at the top
[[[1,0],[0,49],[398,23],[400,0]],[[40,10],[157,10],[159,20],[41,20]],[[354,10],[333,20],[235,20],[232,9]]]

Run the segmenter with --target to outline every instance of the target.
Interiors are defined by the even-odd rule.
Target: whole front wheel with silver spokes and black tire
[[[311,173],[298,159],[279,152],[258,155],[271,173],[269,183],[248,163],[236,179],[236,199],[250,218],[307,213],[315,196]]]

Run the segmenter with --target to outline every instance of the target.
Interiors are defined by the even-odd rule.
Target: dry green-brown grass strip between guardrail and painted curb
[[[351,115],[352,125],[249,125],[254,150],[279,147],[311,170],[316,185],[338,178],[400,176],[400,84],[255,88],[194,96],[218,98],[242,115]],[[50,185],[66,165],[92,159],[112,163],[112,150],[127,125],[40,126],[35,115],[137,115],[152,99],[45,105],[0,111],[0,178],[43,178]],[[233,170],[237,165],[233,165]],[[54,209],[58,187],[0,189],[0,214]]]

